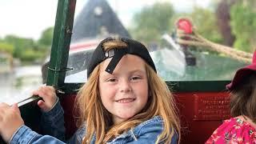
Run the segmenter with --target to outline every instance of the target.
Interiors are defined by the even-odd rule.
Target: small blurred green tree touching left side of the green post
[[[38,39],[38,45],[51,46],[54,36],[54,27],[43,30],[41,37]]]

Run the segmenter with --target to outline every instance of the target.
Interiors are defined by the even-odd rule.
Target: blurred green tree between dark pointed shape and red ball
[[[134,14],[134,26],[130,28],[133,38],[149,44],[159,41],[162,34],[170,31],[169,20],[174,15],[173,6],[169,2],[154,3]]]

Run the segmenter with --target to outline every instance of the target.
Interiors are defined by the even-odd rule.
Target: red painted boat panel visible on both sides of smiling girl
[[[226,92],[176,93],[174,97],[182,122],[182,144],[206,142],[222,124],[222,120],[230,118],[229,98]],[[74,121],[74,98],[74,94],[61,98],[68,137],[77,129]]]

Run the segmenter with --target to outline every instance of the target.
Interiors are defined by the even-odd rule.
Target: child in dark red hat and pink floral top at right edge
[[[206,143],[256,143],[256,51],[252,64],[238,70],[226,87],[233,118],[224,121]]]

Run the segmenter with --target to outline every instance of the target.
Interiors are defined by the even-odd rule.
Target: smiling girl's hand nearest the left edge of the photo
[[[24,122],[18,110],[18,104],[9,106],[6,103],[0,103],[0,134],[3,140],[10,142],[10,138],[22,125]]]

